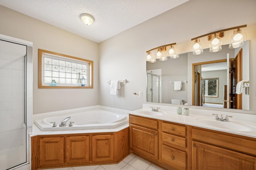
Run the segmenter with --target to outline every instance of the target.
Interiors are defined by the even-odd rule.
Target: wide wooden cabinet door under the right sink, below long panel
[[[256,170],[256,157],[192,142],[193,170]]]

